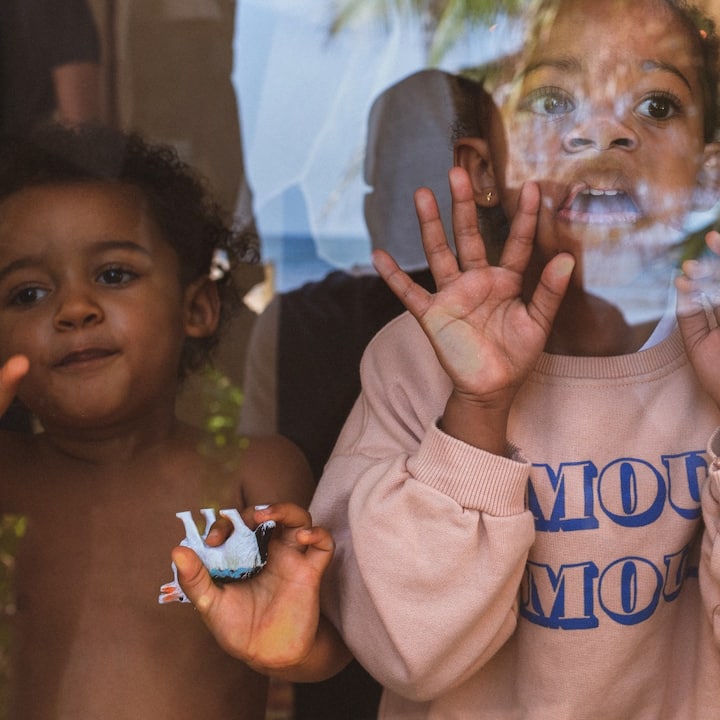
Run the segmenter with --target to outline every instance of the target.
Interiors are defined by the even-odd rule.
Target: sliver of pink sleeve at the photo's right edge
[[[700,555],[700,592],[720,646],[720,428],[708,443],[710,472],[702,493],[705,533]]]

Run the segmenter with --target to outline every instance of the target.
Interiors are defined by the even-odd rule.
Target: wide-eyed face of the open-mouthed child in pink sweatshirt
[[[704,160],[700,60],[656,0],[566,0],[496,92],[493,168],[512,215],[540,183],[538,244],[582,255],[677,242]]]

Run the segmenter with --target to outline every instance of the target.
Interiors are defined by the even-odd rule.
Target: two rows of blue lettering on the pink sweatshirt
[[[700,488],[707,477],[704,452],[665,455],[662,467],[639,458],[619,458],[598,468],[590,461],[562,463],[556,470],[533,465],[528,507],[537,532],[583,532],[600,518],[623,528],[642,528],[668,508],[694,523]],[[537,625],[565,630],[599,625],[600,614],[621,625],[647,620],[661,600],[672,602],[697,568],[690,546],[664,556],[663,567],[628,555],[598,567],[579,561],[552,567],[528,561],[521,585],[520,614]]]

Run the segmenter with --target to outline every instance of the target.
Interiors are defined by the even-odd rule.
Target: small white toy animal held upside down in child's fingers
[[[203,535],[200,535],[189,510],[176,513],[185,526],[185,539],[180,544],[195,551],[213,580],[216,582],[244,580],[262,570],[267,562],[268,543],[272,529],[275,527],[274,520],[261,523],[253,532],[243,522],[237,510],[234,508],[221,510],[220,514],[232,523],[233,532],[222,545],[210,547],[205,544],[205,538],[215,522],[215,511],[212,508],[204,508],[200,512],[205,518]],[[172,563],[172,570],[173,580],[160,588],[158,602],[161,605],[169,602],[190,602],[178,583],[175,563]]]

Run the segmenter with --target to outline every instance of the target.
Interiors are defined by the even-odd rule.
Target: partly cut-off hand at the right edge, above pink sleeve
[[[720,407],[720,233],[709,232],[706,243],[713,254],[683,263],[676,280],[677,315],[690,362]]]

